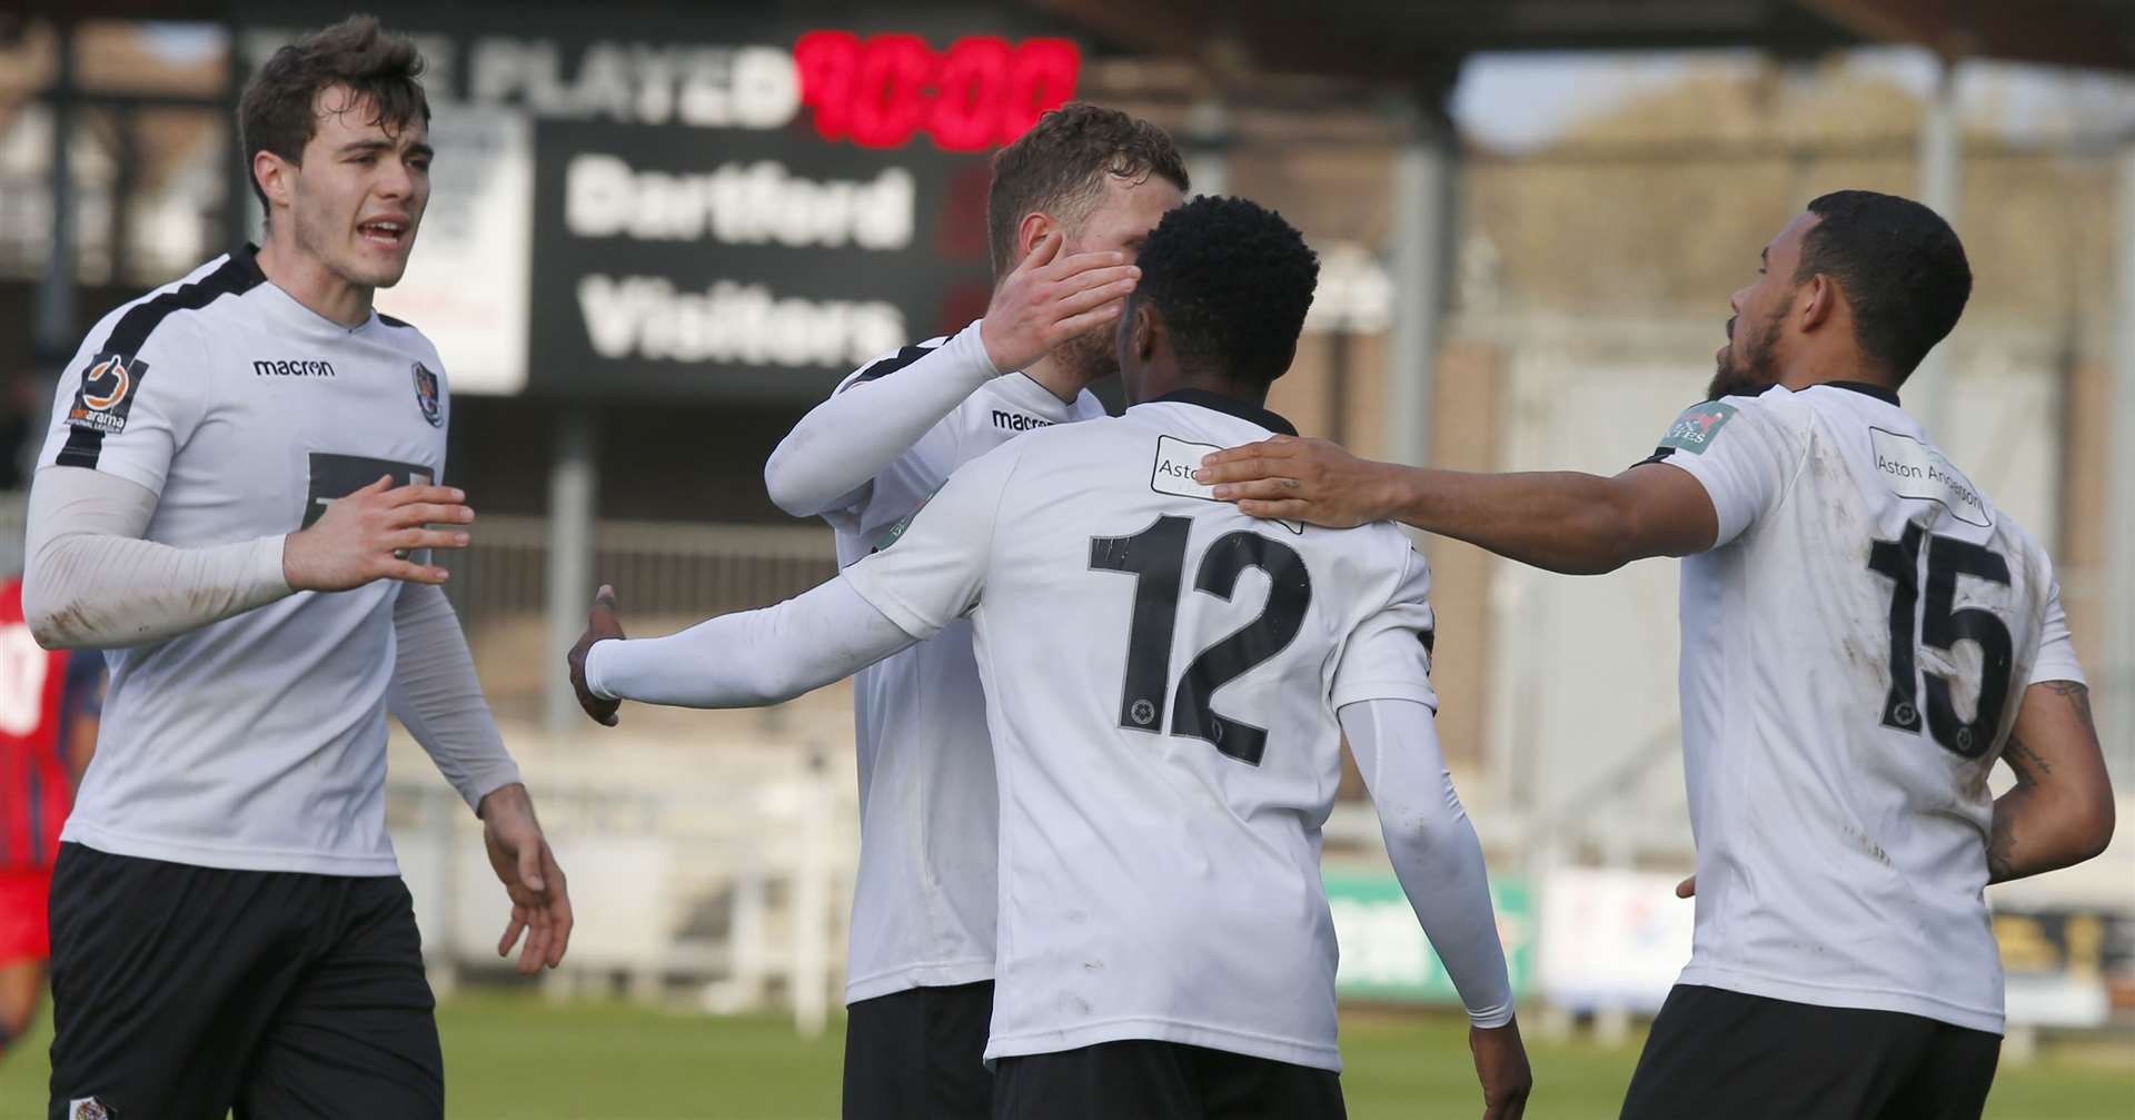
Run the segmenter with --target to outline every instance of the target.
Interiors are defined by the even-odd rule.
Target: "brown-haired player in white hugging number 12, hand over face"
[[[1095,105],[1046,113],[995,156],[989,224],[1006,242],[984,321],[848,376],[764,464],[771,498],[828,522],[843,569],[895,539],[965,462],[1102,417],[1085,385],[1117,368],[1110,323],[1134,284],[1134,246],[1185,186],[1161,128]],[[845,1118],[982,1118],[997,797],[971,624],[863,669],[854,737]]]

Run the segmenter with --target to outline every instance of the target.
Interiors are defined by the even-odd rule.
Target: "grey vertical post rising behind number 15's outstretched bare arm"
[[[1409,90],[1392,105],[1401,128],[1394,154],[1394,329],[1388,340],[1386,457],[1430,462],[1437,359],[1454,256],[1454,175],[1458,137],[1443,92]]]

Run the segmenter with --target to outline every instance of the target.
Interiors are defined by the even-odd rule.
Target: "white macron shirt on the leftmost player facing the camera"
[[[410,325],[318,316],[252,252],[107,314],[60,383],[41,466],[158,494],[145,539],[288,534],[384,475],[444,475],[438,351]],[[397,581],[297,592],[149,645],[111,684],[64,840],[205,868],[397,874],[386,684]]]

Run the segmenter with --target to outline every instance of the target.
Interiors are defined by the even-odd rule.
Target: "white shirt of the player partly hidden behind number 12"
[[[946,338],[905,346],[845,378],[895,376]],[[967,340],[978,344],[976,333]],[[984,361],[984,353],[971,357]],[[935,423],[848,507],[824,513],[837,562],[850,566],[890,539],[965,462],[1055,423],[1102,417],[1091,393],[1072,404],[1025,374],[986,380]],[[971,624],[854,678],[860,769],[860,868],[852,891],[845,1002],[907,987],[993,977],[997,793],[986,697],[971,660]]]

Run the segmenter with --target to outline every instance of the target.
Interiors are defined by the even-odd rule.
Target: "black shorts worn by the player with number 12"
[[[995,1062],[999,1120],[1341,1120],[1341,1075],[1185,1043],[1121,1041]]]

